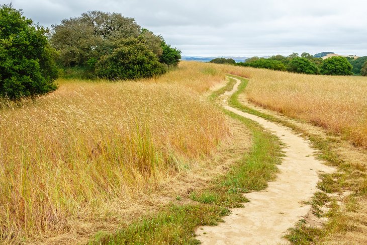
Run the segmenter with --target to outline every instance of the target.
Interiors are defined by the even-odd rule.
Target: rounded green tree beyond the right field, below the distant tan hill
[[[321,63],[321,73],[325,75],[352,75],[353,66],[345,57],[335,56]]]

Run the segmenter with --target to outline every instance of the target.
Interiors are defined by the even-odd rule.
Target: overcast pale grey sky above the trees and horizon
[[[50,27],[89,10],[121,13],[191,56],[367,55],[365,0],[13,0]],[[8,2],[10,3],[10,1]]]

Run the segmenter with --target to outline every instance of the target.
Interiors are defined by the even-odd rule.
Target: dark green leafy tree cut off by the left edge
[[[46,30],[13,9],[0,6],[0,96],[19,99],[56,90],[55,50]]]

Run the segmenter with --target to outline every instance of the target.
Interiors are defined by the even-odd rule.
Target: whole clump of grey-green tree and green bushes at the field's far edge
[[[52,28],[50,41],[59,52],[59,64],[65,69],[85,69],[86,76],[127,79],[158,75],[167,70],[164,66],[177,66],[181,58],[180,50],[161,36],[118,13],[89,11]],[[132,55],[137,55],[136,60]]]

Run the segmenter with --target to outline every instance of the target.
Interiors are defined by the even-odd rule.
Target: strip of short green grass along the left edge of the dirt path
[[[210,96],[211,100],[231,90],[234,84],[235,80],[230,79],[226,87]],[[230,100],[235,102],[237,96]],[[240,207],[247,201],[243,193],[264,189],[276,177],[276,166],[281,162],[279,139],[249,119],[226,110],[225,113],[250,129],[253,146],[208,188],[190,194],[197,204],[170,204],[154,217],[142,217],[113,234],[101,232],[89,244],[199,244],[195,238],[198,226],[216,225],[222,216],[229,214],[228,208]]]

